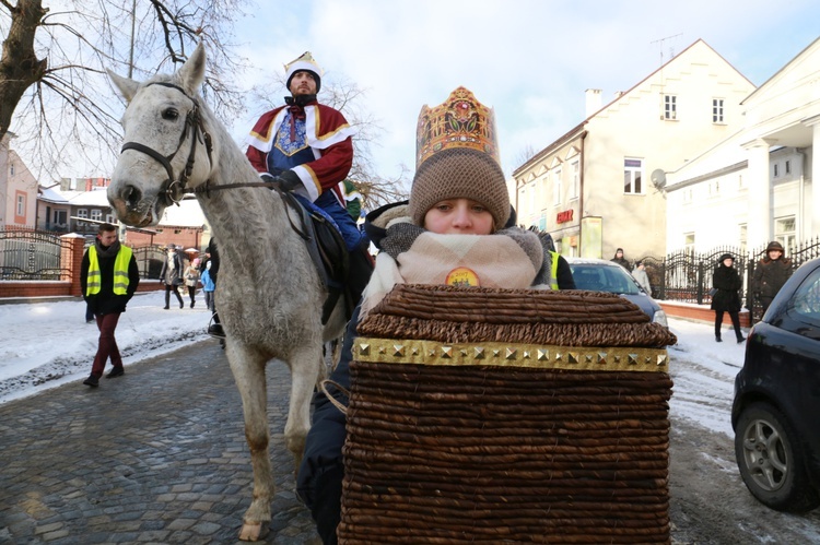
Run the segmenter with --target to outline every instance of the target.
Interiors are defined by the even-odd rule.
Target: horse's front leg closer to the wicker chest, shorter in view
[[[302,463],[305,438],[311,428],[311,398],[323,372],[321,344],[305,343],[291,354],[291,405],[284,425],[284,442],[293,454],[295,469]]]

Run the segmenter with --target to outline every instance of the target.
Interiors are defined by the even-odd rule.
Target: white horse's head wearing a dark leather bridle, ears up
[[[108,201],[128,225],[154,225],[187,188],[211,171],[211,138],[197,90],[204,79],[200,44],[172,76],[137,82],[108,72],[128,103],[125,141],[108,188]]]

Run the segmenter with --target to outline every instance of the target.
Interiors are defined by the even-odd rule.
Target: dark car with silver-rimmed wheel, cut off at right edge
[[[758,500],[789,512],[820,506],[820,259],[795,271],[749,332],[731,426]]]

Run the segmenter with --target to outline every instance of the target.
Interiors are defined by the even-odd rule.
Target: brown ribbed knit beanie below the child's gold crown
[[[410,190],[410,217],[424,224],[435,203],[447,199],[471,199],[493,216],[495,229],[509,217],[509,196],[504,173],[488,154],[467,147],[450,147],[421,164]]]

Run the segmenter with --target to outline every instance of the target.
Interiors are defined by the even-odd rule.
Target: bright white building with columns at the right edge
[[[667,175],[670,250],[820,235],[820,38],[740,104],[739,131]]]

